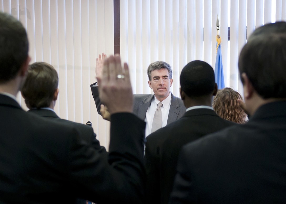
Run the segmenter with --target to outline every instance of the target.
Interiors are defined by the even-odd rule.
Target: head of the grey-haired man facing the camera
[[[156,61],[149,65],[148,84],[159,101],[163,101],[170,94],[170,87],[173,84],[172,69],[163,61]]]

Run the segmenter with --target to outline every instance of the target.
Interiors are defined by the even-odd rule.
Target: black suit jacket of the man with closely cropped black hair
[[[186,143],[235,123],[219,117],[211,109],[187,111],[177,121],[147,138],[145,166],[147,171],[147,203],[168,203],[172,191],[180,149]]]

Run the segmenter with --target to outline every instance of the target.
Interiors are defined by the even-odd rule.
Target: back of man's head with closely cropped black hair
[[[186,99],[191,99],[196,105],[211,106],[212,96],[217,94],[214,70],[208,63],[200,60],[191,61],[182,69],[180,86],[185,105]]]

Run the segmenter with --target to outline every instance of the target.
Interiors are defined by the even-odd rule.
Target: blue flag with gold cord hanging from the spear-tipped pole
[[[217,58],[215,60],[215,82],[218,89],[225,87],[225,79],[223,77],[223,62],[221,58],[221,38],[217,37]]]

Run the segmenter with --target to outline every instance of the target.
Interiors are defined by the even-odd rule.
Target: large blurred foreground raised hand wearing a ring
[[[127,63],[124,70],[120,55],[111,55],[104,60],[102,77],[98,78],[99,98],[110,114],[132,113],[133,95]]]

